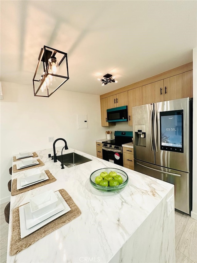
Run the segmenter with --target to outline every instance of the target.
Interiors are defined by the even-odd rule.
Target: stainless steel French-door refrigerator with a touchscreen
[[[174,184],[175,208],[191,212],[192,99],[132,108],[135,171]]]

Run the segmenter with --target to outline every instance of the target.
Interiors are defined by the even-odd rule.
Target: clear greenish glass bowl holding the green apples
[[[123,178],[123,183],[122,184],[119,184],[119,185],[116,185],[116,186],[101,186],[101,185],[98,185],[95,183],[95,178],[97,176],[100,176],[100,173],[101,172],[111,172],[111,171],[114,171],[116,172],[117,174],[121,175],[122,178]],[[98,169],[96,171],[94,171],[93,173],[91,173],[90,175],[90,184],[96,188],[97,190],[99,191],[102,191],[102,192],[117,192],[117,191],[120,191],[121,189],[123,189],[127,184],[128,184],[128,176],[126,174],[126,172],[120,170],[120,169],[116,169],[116,168],[102,168],[102,169]]]

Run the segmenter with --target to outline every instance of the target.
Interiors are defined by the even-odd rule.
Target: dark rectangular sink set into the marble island
[[[57,160],[62,162],[62,157],[63,157],[63,164],[67,166],[68,168],[79,165],[79,164],[84,164],[86,162],[92,161],[91,159],[88,159],[82,155],[79,155],[75,152],[63,154],[62,156],[59,155],[57,156]]]

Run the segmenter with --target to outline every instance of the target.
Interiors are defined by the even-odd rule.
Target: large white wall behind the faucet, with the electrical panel
[[[64,138],[68,147],[96,156],[95,140],[105,138],[98,95],[58,90],[50,98],[42,98],[34,97],[33,86],[2,82],[2,87],[1,203],[10,198],[7,183],[12,156],[52,148],[49,136]],[[77,114],[88,115],[88,129],[77,129]],[[60,145],[63,142],[57,142]]]

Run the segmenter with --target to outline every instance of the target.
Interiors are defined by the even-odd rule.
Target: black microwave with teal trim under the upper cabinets
[[[128,121],[128,109],[127,106],[112,108],[107,110],[107,121]]]

